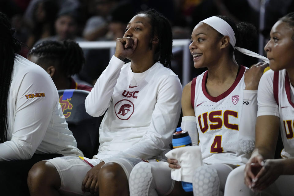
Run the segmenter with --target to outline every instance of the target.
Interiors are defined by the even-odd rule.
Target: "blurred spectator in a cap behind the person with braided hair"
[[[75,40],[83,41],[84,39],[78,36],[78,30],[80,24],[80,15],[77,10],[71,9],[61,9],[58,13],[57,19],[55,21],[55,36],[47,37],[37,41],[36,44],[45,40]],[[36,45],[35,44],[35,45]]]

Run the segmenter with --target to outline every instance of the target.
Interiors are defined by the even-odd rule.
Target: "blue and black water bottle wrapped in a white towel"
[[[179,148],[184,146],[191,146],[192,140],[187,131],[183,131],[181,127],[178,127],[176,132],[172,134],[172,146],[173,148]],[[182,187],[186,192],[193,191],[192,183],[183,182]]]

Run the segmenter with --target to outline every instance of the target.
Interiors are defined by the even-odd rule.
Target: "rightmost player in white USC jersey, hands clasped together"
[[[226,196],[294,195],[293,27],[294,13],[289,13],[271,29],[270,40],[264,47],[271,70],[262,76],[258,86],[255,149],[246,167],[228,176]],[[273,159],[280,130],[282,159]]]

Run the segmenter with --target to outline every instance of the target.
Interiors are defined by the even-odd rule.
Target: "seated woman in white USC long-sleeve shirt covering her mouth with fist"
[[[92,116],[107,110],[99,153],[93,159],[61,157],[36,164],[28,178],[32,196],[90,195],[98,188],[100,195],[128,195],[134,165],[163,159],[181,110],[181,84],[165,67],[171,49],[171,27],[160,13],[150,10],[131,19],[85,101]],[[131,62],[124,65],[125,58]]]

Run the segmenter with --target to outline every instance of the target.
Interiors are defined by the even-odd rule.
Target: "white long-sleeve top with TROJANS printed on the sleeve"
[[[14,60],[7,121],[7,141],[0,144],[0,161],[26,160],[34,153],[83,155],[67,127],[50,75],[20,55]]]

